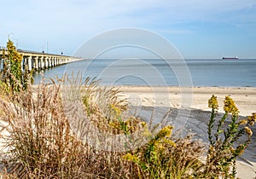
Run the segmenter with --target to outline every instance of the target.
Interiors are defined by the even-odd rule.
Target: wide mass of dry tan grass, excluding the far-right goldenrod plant
[[[2,137],[3,178],[207,177],[200,141],[173,137],[172,126],[151,126],[126,113],[119,90],[94,79],[59,82],[13,96],[2,90],[1,130],[9,132]],[[109,136],[123,138],[106,142]]]

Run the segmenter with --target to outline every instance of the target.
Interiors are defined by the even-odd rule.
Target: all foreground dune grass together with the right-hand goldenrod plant
[[[205,144],[191,134],[178,135],[171,124],[153,124],[153,118],[146,123],[129,113],[119,90],[96,79],[65,76],[51,82],[0,98],[5,178],[235,178],[236,158],[252,140],[256,114],[239,119],[229,96],[220,119],[217,97],[209,100]],[[86,120],[76,115],[81,106]],[[112,150],[111,142],[100,148],[101,137],[90,133],[91,126],[107,136],[127,136],[127,150]],[[129,143],[135,132],[144,139],[140,147]]]

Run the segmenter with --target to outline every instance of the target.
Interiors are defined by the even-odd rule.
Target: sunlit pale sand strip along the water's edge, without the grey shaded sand
[[[216,95],[218,111],[222,113],[224,98],[229,95],[236,102],[241,116],[256,112],[256,88],[254,87],[119,86],[117,89],[128,101],[136,98],[137,103],[148,107],[185,107],[209,111],[208,100],[212,95]]]

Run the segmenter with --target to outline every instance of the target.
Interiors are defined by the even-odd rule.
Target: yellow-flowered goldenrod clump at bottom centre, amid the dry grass
[[[191,136],[173,141],[172,126],[162,128],[144,147],[123,157],[138,167],[138,178],[188,178],[201,166],[203,145]]]

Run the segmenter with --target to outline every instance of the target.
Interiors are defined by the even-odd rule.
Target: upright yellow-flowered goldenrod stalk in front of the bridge
[[[28,84],[32,83],[32,72],[28,72],[27,66],[22,72],[22,55],[20,55],[14,43],[9,40],[7,43],[7,53],[3,50],[3,72],[2,81],[9,88],[9,92],[19,92],[26,90]]]

